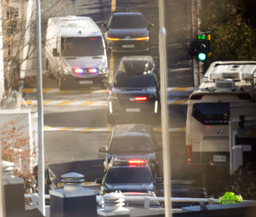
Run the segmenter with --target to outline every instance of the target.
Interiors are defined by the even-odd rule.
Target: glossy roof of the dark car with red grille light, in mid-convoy
[[[152,56],[124,56],[119,64],[119,72],[124,74],[144,74],[152,62]]]

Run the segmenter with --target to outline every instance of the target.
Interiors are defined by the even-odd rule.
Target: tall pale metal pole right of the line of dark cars
[[[159,54],[160,54],[160,82],[161,82],[161,117],[163,140],[163,192],[165,216],[172,216],[171,204],[171,161],[169,144],[169,117],[167,104],[167,63],[166,63],[166,30],[164,28],[165,1],[159,0]]]

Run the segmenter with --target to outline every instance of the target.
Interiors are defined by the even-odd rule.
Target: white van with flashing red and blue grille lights
[[[59,90],[67,84],[101,86],[109,69],[102,31],[90,17],[49,18],[45,56],[50,77]]]

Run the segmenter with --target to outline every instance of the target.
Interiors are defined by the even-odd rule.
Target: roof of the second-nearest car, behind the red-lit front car
[[[132,124],[132,125],[117,125],[113,127],[114,135],[134,134],[139,133],[141,135],[150,134],[150,125],[144,124]],[[137,134],[136,134],[137,135]]]

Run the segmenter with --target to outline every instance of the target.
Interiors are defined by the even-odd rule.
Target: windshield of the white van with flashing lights
[[[103,56],[102,37],[61,38],[61,56]]]

